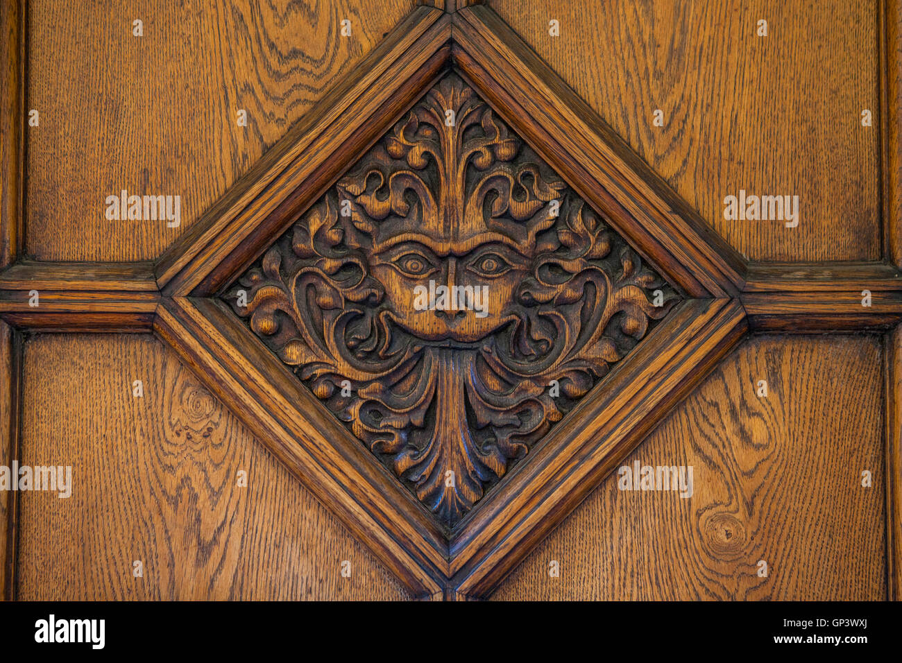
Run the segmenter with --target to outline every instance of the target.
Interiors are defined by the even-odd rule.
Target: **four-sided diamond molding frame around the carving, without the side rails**
[[[741,260],[695,217],[672,212],[678,199],[661,196],[662,182],[606,141],[612,135],[575,107],[575,98],[562,99],[549,87],[538,61],[505,52],[509,41],[498,37],[503,26],[491,24],[494,14],[483,7],[418,13],[422,18],[401,35],[421,34],[406,49],[377,52],[364,63],[361,69],[373,74],[368,85],[324,105],[331,122],[303,134],[310,144],[286,141],[294,161],[281,172],[269,170],[273,180],[253,200],[223,210],[203,235],[198,225],[197,241],[161,262],[157,273],[170,299],[156,328],[201,373],[220,376],[207,377],[211,389],[283,462],[328,486],[330,505],[354,521],[355,531],[417,594],[481,597],[519,560],[517,553],[556,524],[560,502],[582,499],[656,420],[642,413],[666,411],[742,336],[744,315],[731,299],[739,292]],[[411,499],[218,299],[449,69],[686,298],[453,529]],[[692,241],[683,242],[686,237]]]

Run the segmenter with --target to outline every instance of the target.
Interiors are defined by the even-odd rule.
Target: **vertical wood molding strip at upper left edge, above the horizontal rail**
[[[0,269],[22,255],[25,124],[25,0],[0,5]]]

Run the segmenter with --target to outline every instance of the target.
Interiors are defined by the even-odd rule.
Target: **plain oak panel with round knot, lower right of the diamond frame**
[[[692,497],[612,474],[494,598],[885,598],[881,364],[877,336],[751,337],[624,464],[692,465]]]

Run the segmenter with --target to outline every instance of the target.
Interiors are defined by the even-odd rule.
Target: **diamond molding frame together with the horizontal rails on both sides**
[[[685,300],[444,530],[216,293],[450,68]],[[3,264],[12,264],[0,272],[0,316],[15,329],[3,326],[0,348],[11,350],[11,374],[18,329],[152,328],[419,598],[491,594],[750,328],[886,330],[902,319],[902,279],[888,262],[746,264],[482,5],[418,7],[156,263],[23,260],[18,223],[5,227],[13,241]],[[32,288],[40,310],[27,306]],[[13,414],[0,428],[11,449],[17,427]],[[3,593],[14,595],[14,554],[4,567]]]

